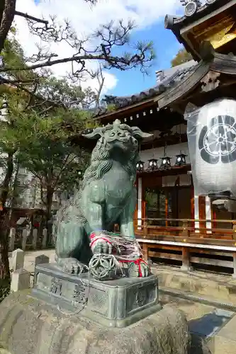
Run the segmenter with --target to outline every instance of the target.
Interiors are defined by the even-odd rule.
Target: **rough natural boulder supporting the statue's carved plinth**
[[[0,304],[0,344],[11,354],[191,353],[186,319],[173,307],[123,329],[108,328],[82,312],[63,314],[26,291]]]

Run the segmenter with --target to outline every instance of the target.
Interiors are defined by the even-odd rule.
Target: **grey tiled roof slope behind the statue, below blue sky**
[[[128,105],[133,105],[135,103],[140,103],[154,96],[167,91],[169,88],[172,88],[176,84],[179,84],[179,81],[185,79],[187,76],[193,72],[196,67],[196,62],[191,60],[190,62],[181,64],[177,67],[163,71],[162,80],[157,81],[157,84],[150,89],[135,93],[132,96],[105,96],[104,101],[107,104],[116,105],[116,109],[128,107]],[[100,110],[96,115],[105,114],[106,109]]]

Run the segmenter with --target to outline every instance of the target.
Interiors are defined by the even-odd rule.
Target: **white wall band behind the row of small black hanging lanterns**
[[[179,154],[181,151],[182,154],[186,154],[186,163],[190,164],[189,160],[189,148],[187,142],[182,142],[180,144],[168,145],[166,149],[166,154],[169,157],[172,157],[171,164],[174,165],[176,161],[176,155]],[[143,150],[140,153],[140,159],[143,162],[147,162],[150,159],[159,159],[157,162],[158,166],[161,163],[161,157],[164,156],[164,147],[157,147],[154,149]],[[147,164],[145,165],[147,168]]]

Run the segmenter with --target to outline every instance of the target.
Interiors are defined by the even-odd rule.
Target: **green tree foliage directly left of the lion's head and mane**
[[[28,115],[28,139],[18,159],[38,179],[44,197],[49,190],[54,193],[70,189],[79,181],[78,171],[84,168],[89,155],[79,146],[72,146],[69,137],[84,129],[85,122],[83,113],[62,108],[44,118],[37,113]],[[43,198],[43,202],[47,205],[48,200]]]

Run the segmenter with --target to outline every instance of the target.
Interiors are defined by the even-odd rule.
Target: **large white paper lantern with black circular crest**
[[[188,117],[195,193],[236,195],[236,101],[222,99]]]

